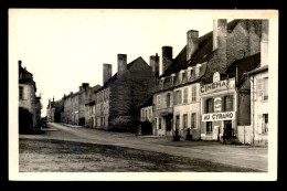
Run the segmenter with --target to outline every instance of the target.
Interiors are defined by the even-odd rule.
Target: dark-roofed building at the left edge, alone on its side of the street
[[[35,132],[41,129],[41,97],[35,95],[33,74],[19,61],[19,132]]]

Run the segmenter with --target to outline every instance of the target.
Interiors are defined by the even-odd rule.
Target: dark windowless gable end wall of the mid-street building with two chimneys
[[[110,85],[110,128],[136,130],[140,120],[140,106],[151,96],[153,81],[151,68],[140,57]]]

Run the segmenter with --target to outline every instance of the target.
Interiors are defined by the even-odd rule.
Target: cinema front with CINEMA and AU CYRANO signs
[[[201,139],[220,140],[236,138],[235,79],[220,79],[214,73],[213,83],[201,86]]]

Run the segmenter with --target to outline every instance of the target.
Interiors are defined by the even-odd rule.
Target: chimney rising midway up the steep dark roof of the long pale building
[[[191,59],[194,52],[199,49],[199,31],[188,31],[188,43],[187,43],[187,61]]]

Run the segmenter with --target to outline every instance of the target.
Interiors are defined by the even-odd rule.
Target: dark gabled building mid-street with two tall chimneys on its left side
[[[138,57],[127,64],[127,55],[118,54],[118,72],[104,64],[104,85],[96,91],[96,128],[135,131],[139,125],[140,105],[151,96],[155,73]]]

